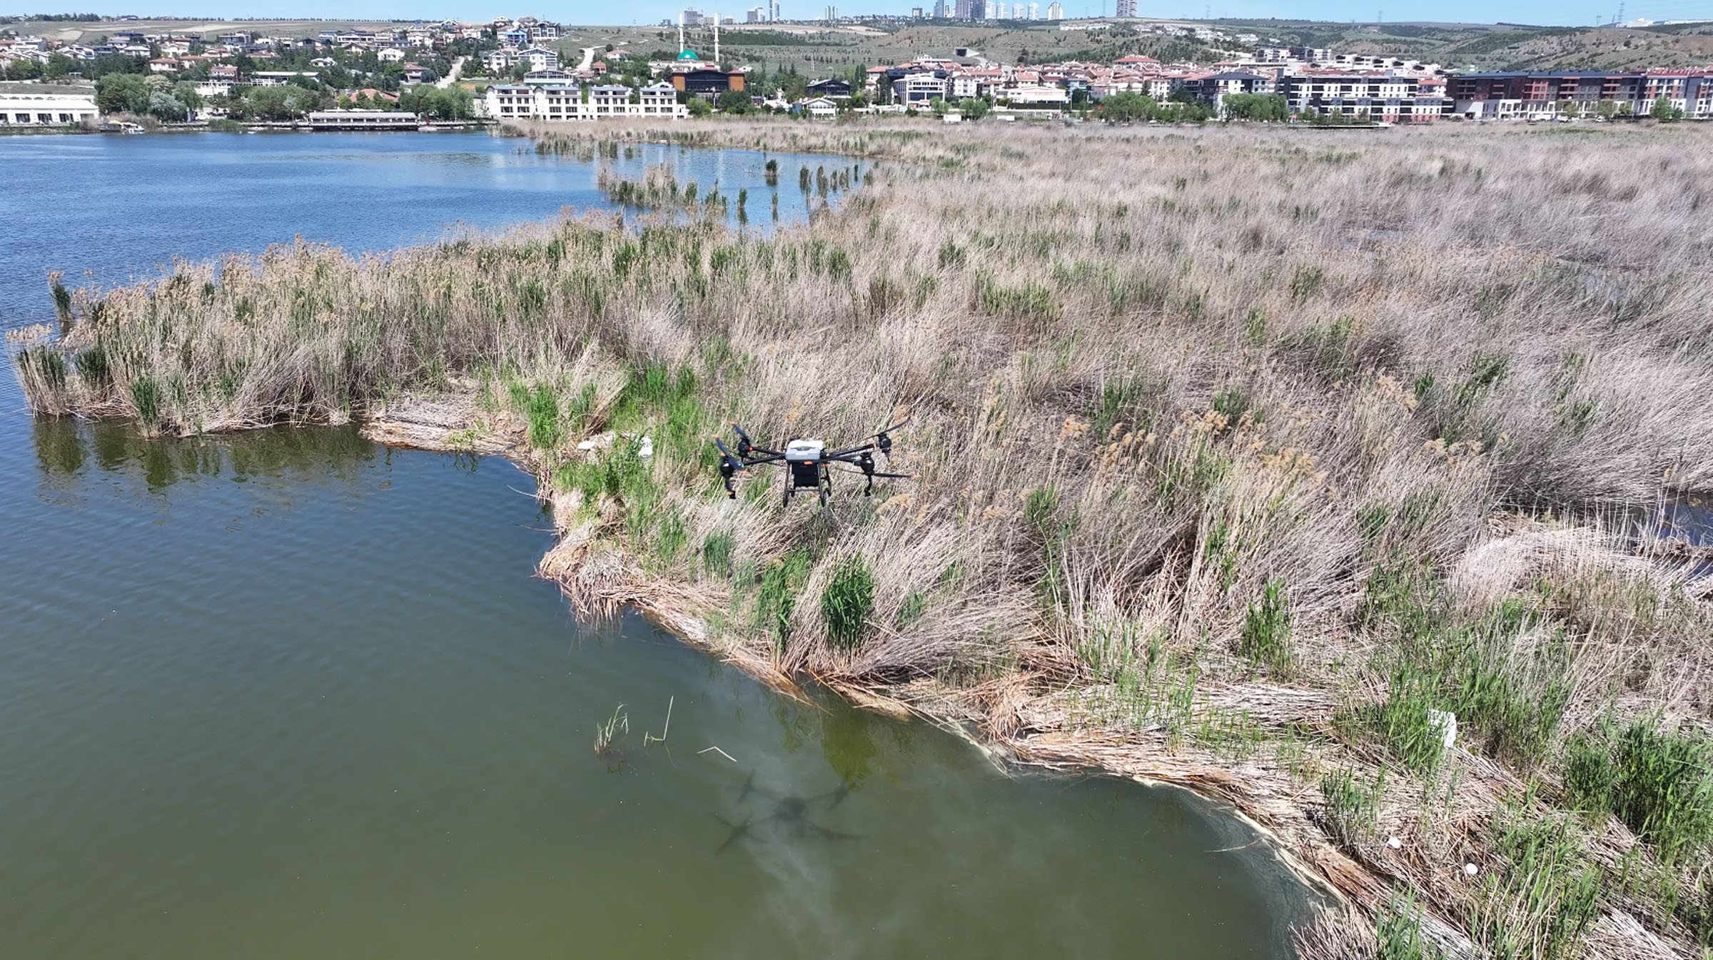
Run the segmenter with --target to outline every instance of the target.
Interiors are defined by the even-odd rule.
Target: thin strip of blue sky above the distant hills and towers
[[[0,0],[0,5],[17,0]],[[819,15],[826,9],[827,0],[783,0],[785,15],[790,19]],[[839,3],[839,10],[845,14],[865,14],[865,12],[910,12],[911,7],[918,5],[932,7],[932,0],[870,0],[870,5],[858,5],[856,0],[846,0]],[[1042,9],[1045,10],[1048,0],[1042,0]],[[1062,0],[1065,5],[1065,15],[1100,15],[1101,12],[1112,10],[1113,0]],[[1525,22],[1525,24],[1593,24],[1605,22],[1617,12],[1617,0],[1610,0],[1610,9],[1603,9],[1600,3],[1607,0],[1583,0],[1583,2],[1554,2],[1554,0],[1507,0],[1502,3],[1492,3],[1483,0],[1442,0],[1432,5],[1420,3],[1403,3],[1398,2],[1393,10],[1386,9],[1384,0],[1215,0],[1211,7],[1208,0],[1167,0],[1163,5],[1149,3],[1141,0],[1137,7],[1144,15],[1156,17],[1201,17],[1209,9],[1213,15],[1228,17],[1292,17],[1292,19],[1317,19],[1317,21],[1364,21],[1370,22],[1376,17],[1384,17],[1388,21],[1465,21],[1465,22]],[[1105,7],[1101,5],[1105,3]],[[33,10],[36,7],[48,9],[53,7],[51,2],[29,0],[27,3]],[[742,19],[743,10],[754,5],[766,5],[766,0],[725,0],[723,3],[709,0],[692,0],[687,5],[699,5],[704,10],[719,9],[721,14],[735,15]],[[166,9],[176,7],[176,3],[163,3]],[[57,7],[55,7],[57,9]],[[534,14],[543,19],[562,21],[569,24],[651,24],[661,19],[677,17],[677,3],[591,3],[581,2],[560,2],[552,5],[516,5],[505,0],[233,0],[230,3],[221,3],[218,7],[202,7],[200,2],[192,0],[185,3],[183,15],[202,15],[218,14],[221,17],[325,17],[325,19],[396,19],[396,17],[423,17],[423,19],[488,19],[502,14],[522,15]],[[1624,5],[1624,17],[1651,17],[1651,19],[1689,19],[1689,17],[1710,17],[1713,19],[1713,0],[1627,0]]]

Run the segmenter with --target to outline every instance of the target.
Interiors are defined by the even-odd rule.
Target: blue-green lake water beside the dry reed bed
[[[517,144],[0,139],[3,322],[51,314],[46,269],[601,204]],[[759,154],[682,159],[764,190]],[[1288,955],[1300,888],[1209,804],[1006,777],[576,622],[500,459],[142,441],[31,418],[3,377],[0,470],[0,957]]]

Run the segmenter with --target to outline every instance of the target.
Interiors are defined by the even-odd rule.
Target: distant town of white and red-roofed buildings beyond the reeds
[[[1119,2],[1119,12],[1134,3]],[[937,0],[937,15],[961,19],[1035,19],[1040,3],[1012,0]],[[834,10],[827,10],[836,17]],[[1060,19],[1059,2],[1047,5]],[[779,19],[779,3],[752,7],[745,19]],[[1228,50],[1250,50],[1215,63],[1167,63],[1139,53],[1110,63],[999,63],[973,50],[958,58],[916,57],[906,63],[868,67],[856,79],[829,77],[800,86],[795,103],[779,94],[776,75],[754,77],[750,69],[723,63],[719,24],[730,17],[687,9],[680,14],[678,53],[660,53],[646,65],[625,50],[588,51],[581,62],[562,62],[552,46],[564,36],[558,24],[534,17],[498,17],[481,24],[452,21],[401,24],[392,29],[329,29],[313,38],[266,36],[252,31],[206,36],[195,31],[144,34],[116,31],[94,46],[0,34],[0,69],[19,70],[57,62],[65,65],[113,57],[132,58],[130,72],[158,75],[173,89],[188,89],[185,103],[200,98],[192,113],[235,117],[248,91],[284,87],[293,96],[310,91],[296,117],[312,129],[392,129],[416,120],[420,96],[399,110],[406,89],[440,79],[456,60],[471,72],[497,77],[478,86],[476,110],[490,120],[598,120],[603,117],[678,118],[702,99],[723,108],[754,105],[809,117],[846,111],[937,111],[1045,115],[1064,110],[1100,110],[1108,98],[1141,94],[1156,106],[1146,117],[1199,120],[1252,117],[1298,122],[1427,123],[1458,120],[1550,122],[1566,118],[1713,118],[1713,67],[1701,70],[1564,70],[1564,72],[1454,72],[1439,63],[1405,57],[1338,53],[1309,46],[1257,46],[1256,34],[1223,26],[1143,22],[1144,33],[1194,36]],[[713,27],[713,57],[704,58],[683,39],[683,27]],[[1065,29],[1096,29],[1105,21],[1064,21]],[[1247,46],[1244,46],[1247,45]],[[58,58],[58,60],[55,60]],[[240,63],[243,65],[240,70]],[[480,65],[480,70],[478,70]],[[286,69],[293,67],[293,69]],[[27,72],[26,72],[27,75]],[[39,74],[38,74],[39,75]],[[618,84],[615,79],[627,82]],[[339,84],[337,87],[332,82]],[[757,84],[755,79],[764,82]],[[159,81],[156,81],[159,82]],[[445,86],[442,81],[440,86]],[[807,89],[805,89],[807,87]],[[731,94],[743,94],[737,101]],[[278,98],[278,93],[276,93]],[[1235,98],[1235,99],[1233,99]],[[1257,105],[1257,98],[1262,103]],[[970,101],[982,101],[970,106]],[[1117,101],[1115,101],[1117,103]],[[1136,117],[1136,96],[1125,117]],[[331,106],[341,110],[329,110]],[[358,110],[353,110],[358,108]],[[360,115],[396,113],[387,118]],[[695,110],[702,110],[697,106]],[[152,111],[152,108],[151,108]],[[346,113],[339,117],[339,113]],[[425,113],[427,117],[445,117]],[[459,117],[468,115],[468,103]],[[183,117],[178,117],[183,118]],[[276,117],[267,117],[274,120]],[[98,120],[94,99],[77,94],[12,93],[0,96],[0,125],[77,125]],[[168,118],[170,120],[170,118]]]

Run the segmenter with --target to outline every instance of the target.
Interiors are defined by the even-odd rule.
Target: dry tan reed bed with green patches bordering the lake
[[[827,151],[781,189],[853,192],[766,240],[558,221],[67,291],[31,405],[442,411],[433,442],[541,477],[581,607],[1228,799],[1352,905],[1305,953],[1701,955],[1706,579],[1644,518],[1713,487],[1713,132],[540,142],[596,137]],[[719,490],[730,420],[904,413],[913,482]]]

